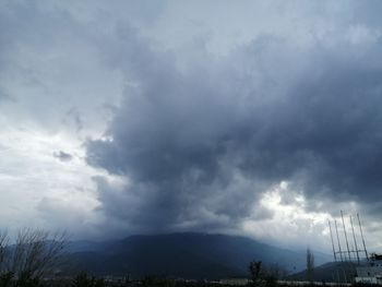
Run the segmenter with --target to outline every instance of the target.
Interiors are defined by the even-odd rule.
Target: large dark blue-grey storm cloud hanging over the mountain
[[[107,216],[135,228],[229,228],[289,181],[314,202],[381,201],[381,41],[294,45],[260,37],[198,69],[120,27],[108,59],[131,85],[87,162]],[[333,36],[333,35],[332,35]],[[333,36],[334,37],[334,36]],[[332,40],[331,38],[329,40]]]

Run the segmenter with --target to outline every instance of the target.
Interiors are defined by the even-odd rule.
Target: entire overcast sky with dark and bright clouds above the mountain
[[[382,251],[381,9],[1,1],[0,228]]]

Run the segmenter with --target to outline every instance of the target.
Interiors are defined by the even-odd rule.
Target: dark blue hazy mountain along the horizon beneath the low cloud
[[[123,240],[77,241],[69,247],[72,270],[98,275],[164,275],[183,278],[247,276],[252,260],[277,265],[288,272],[301,271],[305,252],[296,252],[225,235],[168,234],[131,236]],[[324,256],[317,258],[323,263]]]

